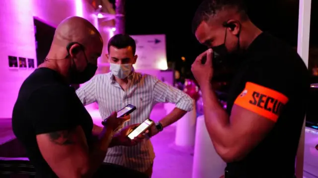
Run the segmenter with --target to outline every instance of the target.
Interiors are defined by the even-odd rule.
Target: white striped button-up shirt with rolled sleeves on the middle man
[[[128,104],[136,106],[136,111],[131,114],[131,119],[125,122],[124,126],[148,119],[157,103],[175,103],[177,108],[184,111],[193,109],[193,101],[187,94],[154,76],[133,71],[128,76],[128,81],[127,89],[124,91],[111,72],[97,74],[76,93],[84,105],[97,102],[102,119]],[[109,148],[104,162],[145,172],[151,167],[154,159],[153,145],[150,140],[145,139],[135,146]]]

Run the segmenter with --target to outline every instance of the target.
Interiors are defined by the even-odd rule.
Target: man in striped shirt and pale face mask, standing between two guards
[[[130,36],[113,36],[108,42],[109,54],[106,54],[111,72],[95,75],[77,90],[77,95],[84,105],[97,102],[102,118],[128,104],[136,106],[137,110],[131,114],[131,119],[125,126],[148,119],[157,103],[175,103],[173,111],[150,128],[149,134],[154,136],[191,111],[194,102],[181,90],[163,83],[156,77],[135,72],[132,67],[137,60],[135,52],[136,43]],[[96,125],[94,129],[97,132],[99,130]],[[152,143],[145,139],[135,146],[109,148],[104,161],[143,172],[151,177],[154,159]]]

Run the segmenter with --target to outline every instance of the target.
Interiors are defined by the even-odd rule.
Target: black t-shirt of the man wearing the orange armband
[[[227,112],[231,115],[237,98],[246,94],[246,83],[276,91],[288,102],[281,111],[275,110],[280,105],[275,104],[275,97],[254,93],[256,101],[262,100],[260,110],[280,115],[260,144],[242,161],[228,163],[227,169],[235,178],[292,178],[310,88],[308,69],[294,49],[267,33],[260,34],[245,55],[231,83]],[[249,104],[256,107],[258,103]]]

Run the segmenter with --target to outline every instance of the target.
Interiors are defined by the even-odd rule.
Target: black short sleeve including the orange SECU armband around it
[[[258,61],[260,62],[255,62],[246,71],[245,88],[235,100],[235,104],[277,121],[289,101],[290,76],[285,67],[279,63],[274,64],[273,59]]]

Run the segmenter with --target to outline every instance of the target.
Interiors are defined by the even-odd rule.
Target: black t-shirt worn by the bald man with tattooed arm
[[[39,178],[57,176],[41,155],[36,135],[81,125],[88,145],[93,122],[74,88],[56,71],[36,69],[22,84],[13,108],[12,128],[23,144]]]

